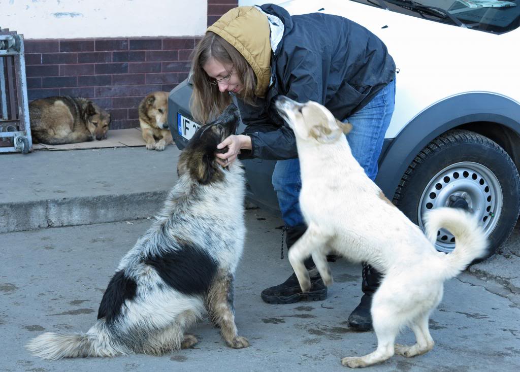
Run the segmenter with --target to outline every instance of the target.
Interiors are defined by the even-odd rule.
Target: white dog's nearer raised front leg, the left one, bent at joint
[[[289,262],[304,292],[310,290],[310,276],[303,261],[315,250],[319,251],[327,241],[328,237],[324,236],[315,226],[309,225],[302,237],[289,249]]]

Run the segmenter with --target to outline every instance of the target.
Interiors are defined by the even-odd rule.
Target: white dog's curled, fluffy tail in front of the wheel
[[[455,249],[444,257],[446,278],[456,276],[476,258],[484,257],[488,242],[478,219],[459,208],[441,207],[432,209],[425,216],[425,234],[434,243],[437,231],[449,230],[455,237]]]

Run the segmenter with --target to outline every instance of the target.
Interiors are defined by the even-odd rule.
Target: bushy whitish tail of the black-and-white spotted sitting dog
[[[124,348],[114,344],[104,323],[105,320],[98,321],[87,333],[61,335],[46,332],[29,341],[27,349],[34,356],[51,361],[61,358],[127,354]]]

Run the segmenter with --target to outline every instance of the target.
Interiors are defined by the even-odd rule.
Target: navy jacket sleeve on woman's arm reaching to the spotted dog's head
[[[295,51],[291,56],[280,56],[277,74],[280,77],[278,86],[280,94],[284,94],[297,102],[309,100],[322,102],[323,84],[321,79],[321,59],[308,50]],[[284,57],[284,58],[283,58]],[[280,62],[282,61],[282,62]],[[240,159],[262,158],[266,160],[285,160],[298,157],[294,132],[287,125],[277,125],[267,115],[267,110],[275,110],[275,98],[270,102],[258,100],[252,107],[240,100],[239,108],[242,122],[246,128],[242,134],[251,137],[252,150],[242,150]]]

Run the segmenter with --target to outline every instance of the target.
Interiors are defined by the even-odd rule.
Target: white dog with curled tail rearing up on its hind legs
[[[289,250],[289,260],[302,290],[310,288],[303,264],[309,255],[323,282],[332,284],[325,258],[329,250],[350,261],[367,262],[384,275],[371,305],[378,348],[365,356],[343,358],[342,364],[366,367],[394,353],[410,357],[432,350],[428,318],[443,296],[444,281],[486,254],[487,241],[477,219],[461,209],[434,209],[426,218],[426,237],[352,156],[344,136],[352,125],[337,121],[316,102],[301,104],[282,97],[276,107],[295,133],[301,165],[300,207],[308,229]],[[440,228],[456,237],[451,254],[435,249]],[[404,326],[415,334],[413,346],[394,344]]]

